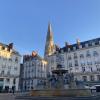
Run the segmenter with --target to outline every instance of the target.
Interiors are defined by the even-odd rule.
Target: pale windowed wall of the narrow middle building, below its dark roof
[[[32,57],[32,56],[30,56]],[[38,88],[40,81],[46,80],[47,66],[46,61],[33,57],[24,61],[23,90],[32,90]],[[26,91],[25,90],[25,91]]]

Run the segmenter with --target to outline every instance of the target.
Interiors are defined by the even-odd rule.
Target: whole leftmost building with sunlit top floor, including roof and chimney
[[[0,91],[18,91],[21,55],[13,43],[0,43]]]

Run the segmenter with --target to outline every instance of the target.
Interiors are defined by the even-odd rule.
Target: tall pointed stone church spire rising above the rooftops
[[[45,54],[44,56],[52,55],[55,51],[54,41],[53,41],[53,32],[51,28],[51,24],[48,24],[48,31],[46,37],[46,44],[45,44]]]

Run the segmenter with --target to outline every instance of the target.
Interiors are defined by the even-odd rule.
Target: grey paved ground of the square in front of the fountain
[[[23,99],[15,99],[16,95],[11,93],[1,93],[0,100],[100,100],[99,97],[90,98],[68,98],[68,97],[24,97]]]

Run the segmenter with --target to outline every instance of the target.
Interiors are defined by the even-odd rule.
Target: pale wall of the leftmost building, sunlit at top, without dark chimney
[[[0,46],[0,48],[1,47],[2,46]],[[6,86],[12,89],[12,86],[14,86],[13,79],[16,79],[15,89],[18,91],[21,56],[19,53],[12,52],[16,51],[8,51],[6,47],[5,50],[0,49],[0,79],[4,81],[2,85],[3,89],[5,89]]]

